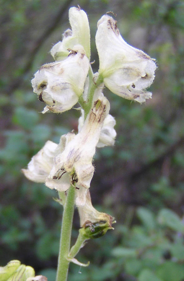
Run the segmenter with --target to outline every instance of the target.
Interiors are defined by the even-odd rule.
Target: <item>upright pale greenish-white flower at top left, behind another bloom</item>
[[[90,27],[86,13],[80,7],[72,7],[69,10],[69,21],[72,30],[67,29],[63,34],[63,41],[52,47],[52,57],[61,61],[68,56],[68,49],[73,50],[75,45],[80,44],[90,60]]]

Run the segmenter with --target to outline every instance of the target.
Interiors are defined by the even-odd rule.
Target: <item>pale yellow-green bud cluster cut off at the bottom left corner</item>
[[[12,260],[6,266],[0,267],[0,281],[26,281],[28,277],[34,276],[34,269],[21,264],[19,260]]]

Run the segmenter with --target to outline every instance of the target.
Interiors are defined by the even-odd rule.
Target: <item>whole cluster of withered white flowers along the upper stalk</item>
[[[156,64],[143,51],[128,45],[114,18],[106,14],[97,25],[99,71],[93,74],[87,15],[80,7],[72,7],[69,21],[71,29],[51,49],[55,62],[43,65],[31,82],[39,100],[46,104],[42,113],[62,113],[80,103],[78,133],[61,136],[59,144],[47,141],[22,171],[29,180],[61,192],[74,186],[81,226],[102,221],[111,228],[112,217],[96,211],[89,194],[95,149],[114,145],[116,137],[115,119],[102,90],[106,86],[125,99],[142,103],[151,98],[145,89],[153,82]]]

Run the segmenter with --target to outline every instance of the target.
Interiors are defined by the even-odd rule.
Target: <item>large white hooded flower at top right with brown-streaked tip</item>
[[[123,98],[140,103],[151,98],[152,93],[144,89],[153,83],[155,60],[128,45],[112,17],[104,15],[97,27],[99,74],[104,77],[105,86]]]

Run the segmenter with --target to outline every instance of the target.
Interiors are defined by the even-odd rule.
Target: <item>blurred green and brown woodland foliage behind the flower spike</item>
[[[0,264],[19,259],[55,280],[61,206],[54,190],[21,173],[47,140],[77,131],[78,111],[42,115],[31,78],[70,28],[68,9],[88,14],[91,61],[98,70],[97,21],[117,14],[130,45],[157,60],[153,98],[138,104],[104,90],[116,118],[114,147],[97,149],[93,205],[117,223],[90,240],[70,265],[69,281],[184,280],[184,2],[172,0],[1,0]],[[78,235],[74,216],[72,244]]]

